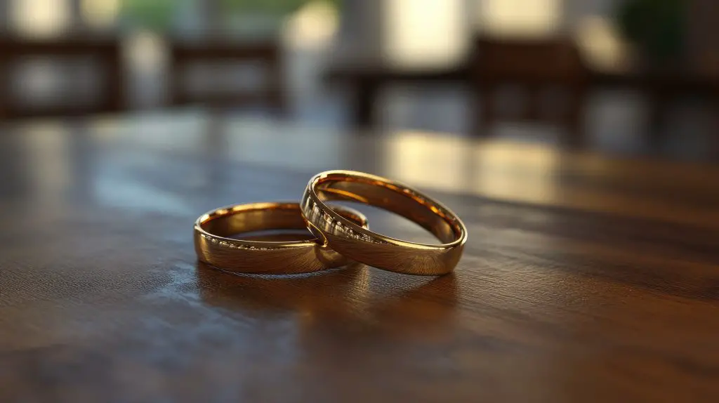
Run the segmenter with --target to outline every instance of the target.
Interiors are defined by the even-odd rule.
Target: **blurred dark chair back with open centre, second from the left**
[[[260,88],[244,91],[191,91],[186,74],[193,65],[221,65],[228,62],[260,66],[265,76]],[[170,103],[174,106],[201,103],[214,107],[247,106],[262,103],[283,113],[286,110],[283,62],[278,41],[234,42],[224,40],[170,43]]]

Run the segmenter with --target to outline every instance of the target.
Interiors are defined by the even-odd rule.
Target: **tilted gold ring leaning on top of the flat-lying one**
[[[426,228],[443,244],[416,244],[369,231],[335,213],[325,200],[351,200],[404,216]],[[467,228],[449,208],[400,182],[353,171],[314,176],[301,201],[308,227],[348,258],[378,269],[405,274],[452,272],[462,256]]]

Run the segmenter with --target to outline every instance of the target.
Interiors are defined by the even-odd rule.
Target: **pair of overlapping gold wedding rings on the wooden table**
[[[356,210],[328,201],[354,201],[384,208],[433,233],[441,244],[418,244],[370,231]],[[308,241],[243,241],[251,231],[308,228]],[[327,171],[307,184],[300,203],[249,203],[217,208],[194,227],[198,259],[229,272],[298,274],[354,261],[404,274],[452,272],[462,256],[467,228],[449,208],[417,190],[383,177]]]

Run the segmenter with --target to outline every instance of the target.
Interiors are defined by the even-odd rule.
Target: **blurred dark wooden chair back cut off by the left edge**
[[[24,105],[14,98],[14,68],[32,59],[82,59],[96,62],[104,70],[99,75],[98,97],[89,103],[68,102],[76,94],[63,94],[58,103],[42,106]],[[124,107],[122,50],[119,40],[83,37],[59,37],[31,40],[0,37],[0,118],[39,116],[73,116],[120,111]],[[74,100],[73,100],[74,101]]]

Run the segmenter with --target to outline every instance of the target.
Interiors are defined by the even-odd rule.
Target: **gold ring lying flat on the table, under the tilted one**
[[[367,228],[367,218],[362,213],[333,208],[333,213],[358,228]],[[317,239],[277,242],[229,238],[237,233],[273,229],[307,229],[298,203],[249,203],[211,210],[195,222],[195,251],[206,264],[242,273],[297,274],[352,263]]]

